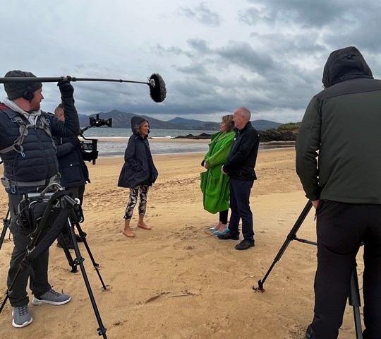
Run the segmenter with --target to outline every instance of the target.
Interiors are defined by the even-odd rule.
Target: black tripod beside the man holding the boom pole
[[[59,184],[54,183],[53,185],[62,189],[61,186],[59,186]],[[89,280],[88,280],[87,275],[86,275],[85,267],[83,266],[83,261],[85,259],[80,255],[80,250],[78,248],[78,244],[75,241],[74,225],[78,228],[78,230],[80,231],[80,234],[83,233],[83,231],[80,229],[80,226],[79,226],[79,220],[83,219],[82,209],[80,208],[80,205],[75,200],[73,200],[73,198],[71,198],[71,196],[70,196],[71,192],[62,191],[62,190],[57,191],[56,193],[54,193],[52,195],[51,198],[49,198],[49,201],[47,201],[47,202],[46,202],[46,199],[44,200],[44,194],[45,193],[46,193],[46,191],[44,190],[42,192],[42,194],[40,194],[39,197],[37,198],[37,203],[41,203],[41,204],[45,203],[45,205],[43,205],[44,212],[42,214],[42,217],[39,218],[36,229],[32,232],[32,234],[30,234],[30,237],[32,240],[31,240],[30,244],[28,245],[25,256],[20,263],[18,271],[17,271],[16,275],[14,276],[11,285],[9,286],[8,290],[6,291],[6,296],[5,296],[4,301],[2,302],[1,307],[0,307],[0,313],[4,308],[6,301],[8,300],[9,295],[11,295],[13,287],[14,287],[16,280],[17,280],[18,276],[20,275],[20,273],[23,270],[25,270],[26,268],[28,268],[28,266],[30,266],[30,263],[32,263],[32,261],[35,258],[40,256],[40,254],[42,254],[43,251],[48,249],[49,246],[52,245],[54,240],[61,233],[63,226],[68,225],[68,229],[71,233],[71,237],[73,238],[73,246],[74,246],[74,251],[75,251],[75,255],[76,255],[75,260],[73,260],[73,259],[71,259],[71,260],[73,261],[73,263],[75,263],[75,268],[78,265],[80,266],[80,270],[81,270],[81,273],[83,275],[83,280],[85,281],[85,286],[87,288],[87,292],[88,292],[88,295],[90,297],[92,308],[94,309],[95,316],[97,318],[97,322],[99,325],[99,328],[97,328],[98,335],[99,336],[102,335],[104,339],[107,339],[107,336],[106,336],[107,329],[103,326],[102,319],[100,317],[99,311],[97,309],[97,304],[95,302],[95,297],[92,293],[90,283],[89,283]],[[7,216],[8,216],[8,213],[7,213]],[[52,216],[54,218],[54,223],[53,223],[52,227],[50,228],[49,232],[47,232],[47,234],[42,239],[40,239],[40,235],[42,234],[42,231],[44,231],[44,228],[47,227],[49,224],[48,220],[52,221]],[[3,229],[2,234],[3,233],[5,234],[6,227],[8,227],[8,223],[6,223],[4,221],[4,229]],[[82,234],[82,236],[83,236],[83,234]],[[83,236],[83,241],[85,243],[87,251],[89,252],[89,254],[92,258],[90,248],[89,248],[84,236]],[[93,261],[93,264],[95,266],[95,270],[97,270],[99,279],[102,282],[103,289],[106,290],[106,286],[104,285],[102,278],[99,274],[99,270],[98,270],[99,265],[97,263],[95,263],[94,258],[92,258],[92,261]]]

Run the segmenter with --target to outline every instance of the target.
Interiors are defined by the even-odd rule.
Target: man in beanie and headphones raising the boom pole
[[[9,71],[5,77],[29,78],[35,75],[26,71]],[[73,86],[66,78],[60,80],[57,85],[66,114],[65,121],[40,109],[40,103],[44,99],[42,83],[4,84],[8,97],[0,103],[0,154],[4,160],[4,177],[1,178],[1,182],[8,193],[11,211],[9,228],[14,244],[8,271],[8,289],[18,272],[20,262],[25,257],[27,246],[30,244],[29,234],[32,232],[32,225],[28,225],[18,213],[19,203],[25,194],[42,191],[49,182],[56,179],[59,164],[52,136],[75,136],[80,129],[78,113],[74,106]],[[41,235],[46,232],[45,230]],[[14,327],[24,327],[32,323],[26,290],[28,279],[34,295],[32,304],[62,305],[70,302],[69,295],[52,290],[48,282],[48,263],[49,249],[20,272],[12,290],[8,291],[13,307]]]

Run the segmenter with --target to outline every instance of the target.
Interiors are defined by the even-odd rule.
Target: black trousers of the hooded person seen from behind
[[[364,338],[381,338],[381,205],[321,201],[317,208],[314,339],[336,339],[356,254],[364,244]]]

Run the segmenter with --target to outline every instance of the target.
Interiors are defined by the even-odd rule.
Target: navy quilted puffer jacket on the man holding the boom
[[[49,129],[53,136],[75,136],[80,130],[78,113],[74,106],[74,99],[63,98],[63,107],[65,109],[66,121],[61,121],[58,118],[41,112],[44,118],[49,123]],[[20,136],[17,122],[9,119],[8,114],[16,114],[29,124],[27,119],[21,114],[14,112],[5,105],[0,107],[0,150],[4,150],[13,145],[14,141]],[[40,117],[37,119],[37,126],[41,126]],[[52,138],[47,135],[44,129],[28,129],[28,135],[23,141],[23,155],[11,150],[8,153],[1,154],[1,159],[4,160],[4,177],[13,182],[38,182],[53,177],[59,169],[56,158],[56,149]],[[20,185],[21,186],[21,185]],[[20,191],[23,193],[22,189]],[[34,188],[35,189],[35,188]],[[28,188],[27,191],[33,189]]]

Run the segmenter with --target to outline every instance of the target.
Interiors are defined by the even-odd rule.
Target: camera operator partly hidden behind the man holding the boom
[[[65,113],[63,112],[63,105],[59,104],[54,110],[57,118],[65,121]],[[97,153],[85,152],[82,150],[78,136],[69,136],[64,138],[53,138],[56,144],[56,156],[59,161],[59,174],[61,174],[61,186],[65,187],[67,191],[74,194],[74,198],[78,198],[80,205],[83,203],[83,195],[85,193],[86,182],[90,183],[89,170],[83,160],[92,161],[97,159]],[[63,227],[63,239],[68,249],[73,249],[73,242],[70,237],[68,225]],[[75,234],[77,242],[83,242],[82,238]],[[61,247],[61,239],[58,239],[57,246]]]

